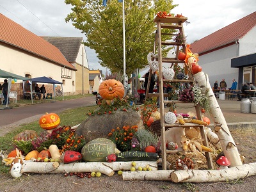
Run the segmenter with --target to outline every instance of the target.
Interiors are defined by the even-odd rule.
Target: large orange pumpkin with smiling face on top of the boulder
[[[100,83],[99,94],[103,99],[111,100],[124,97],[124,85],[116,79],[108,79]]]

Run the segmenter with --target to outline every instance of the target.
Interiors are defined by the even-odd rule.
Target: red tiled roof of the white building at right
[[[242,19],[229,24],[211,35],[191,44],[191,51],[194,53],[202,54],[218,47],[232,44],[236,40],[241,39],[256,25],[256,12],[243,17]]]

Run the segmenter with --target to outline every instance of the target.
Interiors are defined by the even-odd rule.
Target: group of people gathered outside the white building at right
[[[220,82],[220,86],[218,85],[218,81],[215,81],[213,85],[214,92],[216,90],[226,90],[227,89],[227,83],[225,82],[225,79],[222,79]],[[228,88],[230,90],[230,93],[234,93],[233,97],[235,97],[236,90],[237,90],[237,82],[236,79],[232,79],[232,86]],[[241,94],[245,95],[254,95],[254,92],[251,92],[250,90],[256,90],[256,87],[253,85],[253,83],[244,83],[241,89],[241,92],[237,93],[237,100],[241,100]]]

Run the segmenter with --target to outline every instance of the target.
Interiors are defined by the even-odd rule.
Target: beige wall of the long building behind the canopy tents
[[[31,78],[46,76],[60,82],[65,80],[65,84],[63,84],[64,94],[70,95],[76,93],[76,83],[74,83],[74,86],[72,85],[73,81],[76,82],[76,71],[71,70],[71,79],[65,79],[61,78],[60,65],[56,65],[55,63],[51,63],[49,60],[39,58],[35,54],[29,54],[25,51],[22,52],[18,49],[13,49],[13,47],[8,47],[2,44],[0,44],[0,52],[1,69],[22,77],[29,74],[31,75]],[[3,80],[3,78],[0,78],[1,83],[3,83]],[[22,89],[21,84],[22,81],[17,80],[17,83],[12,85],[12,91],[22,93],[22,90],[20,90],[20,88]],[[48,93],[53,93],[52,84],[45,84],[45,87]]]

